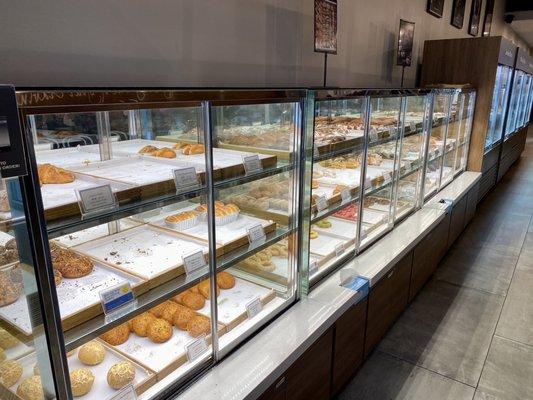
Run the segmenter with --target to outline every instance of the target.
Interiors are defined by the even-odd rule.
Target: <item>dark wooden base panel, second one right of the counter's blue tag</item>
[[[447,214],[439,225],[416,245],[413,253],[409,301],[422,289],[446,253],[449,227],[450,215]]]

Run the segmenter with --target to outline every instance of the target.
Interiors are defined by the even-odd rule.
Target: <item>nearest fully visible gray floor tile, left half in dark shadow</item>
[[[381,341],[379,349],[475,386],[503,296],[430,282]]]

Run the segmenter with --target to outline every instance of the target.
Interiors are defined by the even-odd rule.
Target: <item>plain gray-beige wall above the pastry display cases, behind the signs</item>
[[[467,36],[426,0],[339,0],[339,54],[328,84],[397,86],[399,19],[416,23],[413,85],[423,42]],[[484,10],[484,6],[483,6]],[[493,35],[519,38],[496,0]],[[482,14],[483,18],[483,14]],[[321,85],[313,0],[17,0],[0,14],[0,81],[19,86]]]

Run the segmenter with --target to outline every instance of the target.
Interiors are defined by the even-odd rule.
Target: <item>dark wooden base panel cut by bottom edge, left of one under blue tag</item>
[[[333,329],[329,329],[289,368],[287,400],[327,400],[330,394]]]

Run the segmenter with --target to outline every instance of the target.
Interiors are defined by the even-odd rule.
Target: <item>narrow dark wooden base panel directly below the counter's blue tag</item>
[[[335,323],[331,393],[336,395],[363,363],[367,300],[350,307]]]

